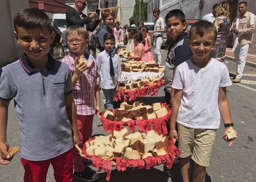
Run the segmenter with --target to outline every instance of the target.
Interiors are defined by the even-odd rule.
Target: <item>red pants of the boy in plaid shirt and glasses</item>
[[[92,136],[92,121],[94,115],[77,115],[78,134],[80,138],[80,147],[83,143]],[[76,172],[84,171],[84,162],[87,160],[79,155],[78,152],[74,153],[73,165]]]

